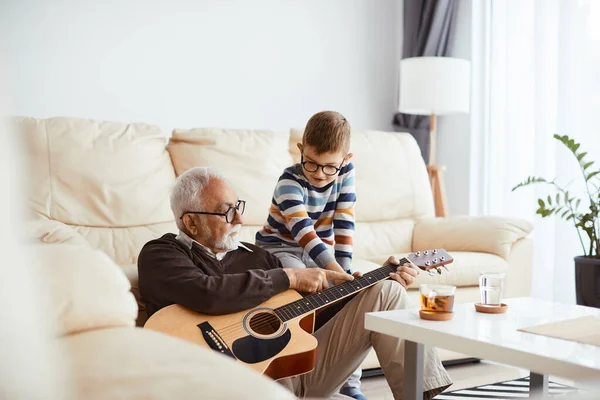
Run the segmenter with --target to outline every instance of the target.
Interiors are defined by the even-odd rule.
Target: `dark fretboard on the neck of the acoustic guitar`
[[[400,265],[407,262],[409,262],[408,259],[402,258]],[[367,272],[360,278],[354,278],[353,281],[344,282],[325,289],[322,292],[308,295],[293,303],[276,308],[273,311],[283,322],[289,321],[318,308],[328,306],[369,286],[373,286],[377,282],[389,278],[390,272],[395,272],[396,268],[398,268],[397,265],[384,265],[383,267]]]

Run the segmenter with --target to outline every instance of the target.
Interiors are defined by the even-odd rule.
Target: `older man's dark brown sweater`
[[[279,260],[249,243],[219,261],[197,243],[172,233],[152,240],[138,258],[139,289],[148,316],[171,304],[202,314],[230,314],[255,307],[289,288]]]

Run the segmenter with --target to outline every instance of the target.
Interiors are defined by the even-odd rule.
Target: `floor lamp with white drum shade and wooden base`
[[[451,57],[413,57],[400,61],[399,111],[428,115],[429,163],[427,171],[435,215],[448,215],[444,169],[436,165],[437,116],[468,113],[471,68],[467,60]]]

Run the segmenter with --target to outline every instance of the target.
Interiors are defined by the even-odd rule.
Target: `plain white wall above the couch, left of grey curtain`
[[[334,109],[391,130],[401,6],[0,0],[0,54],[20,115],[289,128]]]

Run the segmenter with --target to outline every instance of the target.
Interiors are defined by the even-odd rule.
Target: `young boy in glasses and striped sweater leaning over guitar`
[[[279,258],[284,268],[352,273],[356,195],[348,152],[350,124],[340,113],[317,113],[306,124],[298,148],[301,161],[279,177],[256,244]],[[340,392],[365,399],[360,375],[359,368]]]

